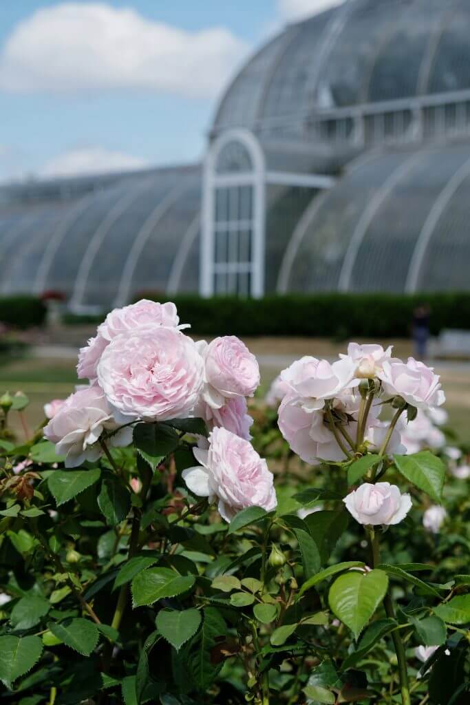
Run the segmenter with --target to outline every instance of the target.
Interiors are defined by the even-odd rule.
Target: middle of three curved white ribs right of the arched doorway
[[[381,188],[378,188],[373,198],[371,198],[368,206],[364,209],[357,226],[354,228],[350,244],[346,250],[345,259],[343,260],[338,279],[338,290],[347,291],[350,288],[352,272],[359,253],[359,248],[361,247],[362,240],[364,240],[364,236],[366,235],[374,216],[376,216],[378,209],[388,197],[389,193],[398,183],[400,183],[400,180],[404,178],[409,171],[411,171],[420,159],[423,159],[424,154],[426,154],[426,152],[418,152],[413,154],[412,157],[409,157],[402,164],[400,164],[400,166],[397,166],[392,171],[388,179],[385,180]]]

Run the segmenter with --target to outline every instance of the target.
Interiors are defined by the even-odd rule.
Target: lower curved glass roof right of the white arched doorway
[[[369,156],[311,203],[278,288],[470,290],[469,220],[470,145]]]

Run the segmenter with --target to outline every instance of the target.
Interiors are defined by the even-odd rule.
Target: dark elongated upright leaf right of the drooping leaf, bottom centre
[[[227,634],[227,625],[221,613],[214,607],[206,607],[203,610],[204,620],[194,653],[191,654],[188,662],[192,678],[197,688],[205,692],[214,682],[222,664],[214,664],[211,658],[211,651],[216,645],[218,637]]]

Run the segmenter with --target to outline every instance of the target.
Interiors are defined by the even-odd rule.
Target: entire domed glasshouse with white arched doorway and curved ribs
[[[470,4],[347,0],[226,90],[203,164],[0,189],[0,293],[468,290]]]

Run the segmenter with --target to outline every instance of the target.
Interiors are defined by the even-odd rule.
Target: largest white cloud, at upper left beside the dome
[[[38,10],[14,28],[0,55],[0,88],[214,97],[247,49],[224,27],[186,32],[130,8],[64,3]]]

